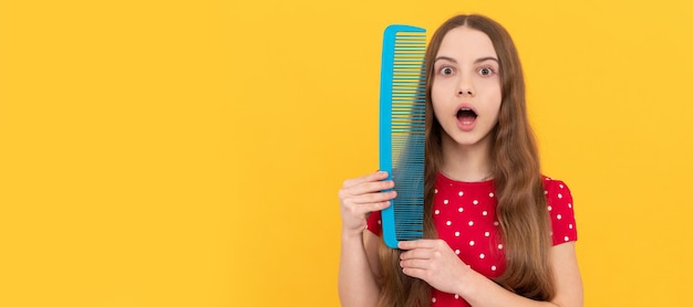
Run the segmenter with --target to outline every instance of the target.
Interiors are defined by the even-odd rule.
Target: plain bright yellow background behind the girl
[[[0,306],[338,306],[382,30],[506,25],[587,306],[691,306],[689,1],[0,1]]]

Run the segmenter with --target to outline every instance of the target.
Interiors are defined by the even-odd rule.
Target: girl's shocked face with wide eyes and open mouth
[[[445,135],[462,146],[485,142],[501,99],[498,56],[488,35],[467,27],[451,30],[433,68],[433,110]]]

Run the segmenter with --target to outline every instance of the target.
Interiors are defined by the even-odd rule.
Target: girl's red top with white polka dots
[[[554,245],[577,241],[572,197],[568,186],[560,180],[544,177],[544,189]],[[438,237],[464,263],[488,278],[500,276],[505,269],[494,192],[493,180],[462,182],[438,173],[432,208]],[[380,235],[380,212],[373,212],[368,220],[369,231]],[[469,306],[458,295],[435,288],[431,301],[432,306]]]

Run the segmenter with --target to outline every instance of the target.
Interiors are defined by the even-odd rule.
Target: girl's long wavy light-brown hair
[[[506,269],[495,279],[518,295],[550,300],[555,283],[549,266],[550,221],[544,195],[539,154],[525,102],[525,81],[519,56],[509,33],[497,22],[483,15],[456,15],[445,21],[433,34],[426,50],[426,160],[424,187],[424,237],[437,236],[433,215],[435,180],[442,162],[443,128],[433,113],[431,88],[433,62],[448,31],[468,27],[490,38],[500,65],[501,104],[498,123],[490,131],[490,161],[498,205]],[[381,244],[381,307],[430,306],[431,286],[402,273],[402,251]]]

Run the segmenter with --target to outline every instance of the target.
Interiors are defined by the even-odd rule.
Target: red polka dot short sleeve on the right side
[[[550,178],[544,182],[548,212],[551,219],[551,240],[554,245],[578,241],[572,194],[568,186]]]

